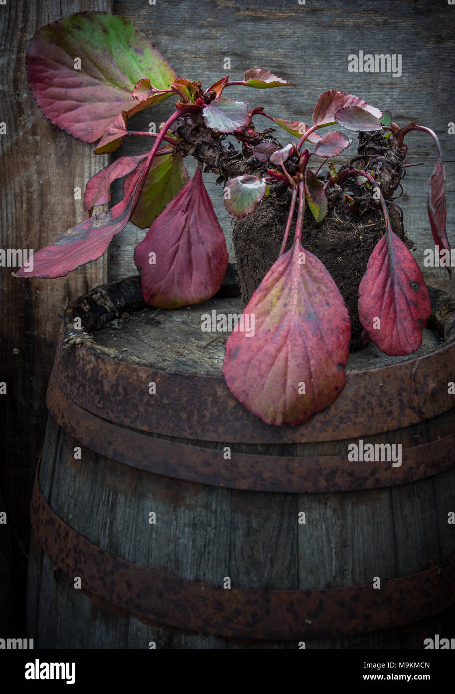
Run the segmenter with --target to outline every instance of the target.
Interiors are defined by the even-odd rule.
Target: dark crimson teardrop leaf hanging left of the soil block
[[[134,262],[144,301],[157,308],[200,303],[220,289],[228,263],[226,241],[199,167],[136,246]]]

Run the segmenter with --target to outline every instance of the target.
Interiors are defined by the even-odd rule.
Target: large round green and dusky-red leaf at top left
[[[138,103],[132,90],[139,80],[168,89],[175,79],[142,31],[105,12],[80,12],[44,26],[30,42],[27,69],[44,115],[84,142],[100,139],[122,111],[132,115],[166,98]]]

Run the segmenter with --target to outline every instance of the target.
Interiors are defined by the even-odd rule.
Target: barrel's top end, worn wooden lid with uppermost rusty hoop
[[[226,387],[229,332],[201,328],[204,314],[211,321],[241,314],[232,286],[174,311],[145,307],[139,276],[93,289],[64,314],[53,386],[107,421],[171,437],[223,441],[229,432],[232,442],[294,443],[390,431],[454,407],[447,382],[455,380],[455,301],[429,292],[432,316],[421,348],[387,357],[371,344],[350,355],[337,400],[296,427],[265,424]],[[48,407],[55,412],[49,394]]]

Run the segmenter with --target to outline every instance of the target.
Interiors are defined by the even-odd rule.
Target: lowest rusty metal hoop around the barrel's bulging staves
[[[292,641],[366,634],[407,625],[455,604],[455,558],[400,578],[324,590],[224,589],[137,566],[93,545],[66,525],[38,484],[33,532],[64,575],[114,607],[170,627],[235,638]]]

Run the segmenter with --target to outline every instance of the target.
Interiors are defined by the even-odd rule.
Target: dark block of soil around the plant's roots
[[[320,223],[316,223],[306,206],[302,246],[323,262],[339,287],[351,319],[350,350],[355,351],[364,346],[361,337],[363,328],[357,310],[359,284],[368,258],[384,234],[385,223],[382,210],[373,206],[373,200],[368,201],[360,217],[355,217],[348,200],[344,198],[345,192],[351,196],[354,194],[355,198],[364,195],[361,187],[352,180],[346,181],[343,189],[333,192],[328,214]],[[253,291],[278,258],[289,201],[286,193],[276,198],[266,198],[247,217],[235,220],[233,245],[244,305],[247,305]],[[414,248],[404,233],[401,209],[393,203],[389,203],[388,209],[393,231],[408,248]],[[296,216],[295,212],[286,250],[294,241]]]

